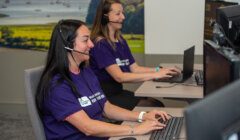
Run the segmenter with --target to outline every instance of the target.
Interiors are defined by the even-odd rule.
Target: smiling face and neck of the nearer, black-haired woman
[[[93,42],[90,40],[90,31],[82,25],[77,30],[77,36],[74,41],[74,50],[89,54],[89,50],[93,47]],[[84,62],[89,60],[89,55],[73,52],[74,59],[77,62]]]

